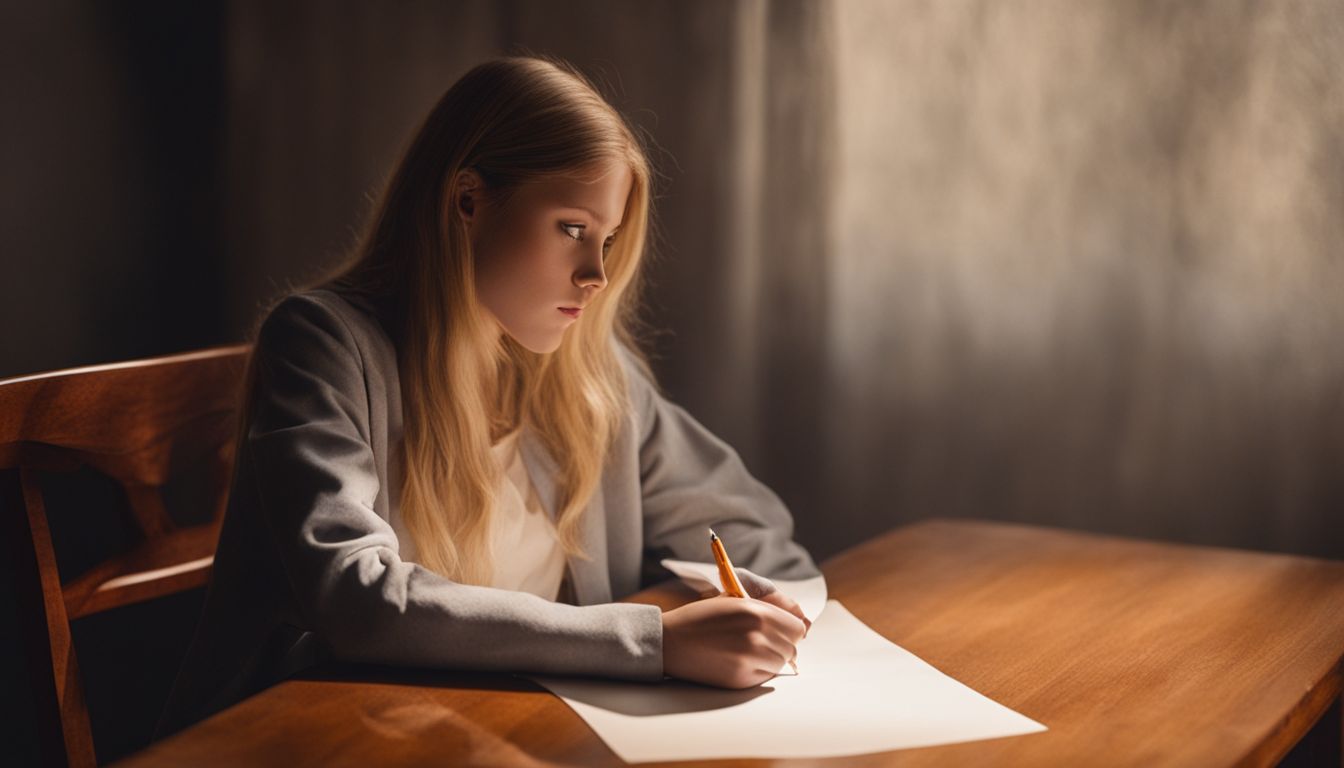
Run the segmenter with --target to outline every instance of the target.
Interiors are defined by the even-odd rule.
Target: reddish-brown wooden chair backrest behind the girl
[[[70,621],[210,578],[249,351],[219,347],[0,381],[0,530],[13,550],[43,763],[95,764]],[[79,521],[129,518],[98,519],[126,529],[129,546],[62,578],[43,479],[85,468],[114,480],[130,514],[78,510]],[[210,499],[190,515],[195,525],[165,504],[165,488],[184,472],[204,480]]]

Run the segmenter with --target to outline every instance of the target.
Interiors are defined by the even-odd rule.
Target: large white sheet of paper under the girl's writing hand
[[[718,581],[712,573],[710,584]],[[805,594],[789,594],[802,605]],[[823,607],[817,616],[804,607],[813,624],[798,644],[798,674],[747,690],[673,679],[531,679],[564,699],[626,763],[839,757],[1046,730],[874,632],[839,601]]]

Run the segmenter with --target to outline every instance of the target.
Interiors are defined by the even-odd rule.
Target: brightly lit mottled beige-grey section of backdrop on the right
[[[1344,555],[1344,4],[833,11],[853,525]]]

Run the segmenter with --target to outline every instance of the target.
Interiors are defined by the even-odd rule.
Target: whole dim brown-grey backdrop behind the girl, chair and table
[[[937,515],[1344,557],[1341,3],[0,13],[0,377],[246,339],[442,90],[526,46],[656,139],[655,367],[818,560]],[[196,609],[77,623],[101,759]]]

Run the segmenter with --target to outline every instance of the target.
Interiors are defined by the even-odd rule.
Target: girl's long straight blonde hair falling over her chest
[[[607,284],[551,354],[532,352],[484,319],[470,242],[454,208],[454,182],[474,169],[487,192],[577,175],[612,159],[632,172]],[[396,344],[405,477],[401,515],[418,562],[464,584],[493,572],[491,515],[503,468],[496,437],[535,430],[559,465],[560,546],[587,558],[581,516],[607,449],[629,417],[613,340],[640,355],[650,167],[632,128],[578,70],[559,59],[507,56],[462,75],[417,130],[351,258],[324,284],[378,308]],[[652,375],[649,375],[652,381]],[[395,482],[395,480],[392,480]]]

